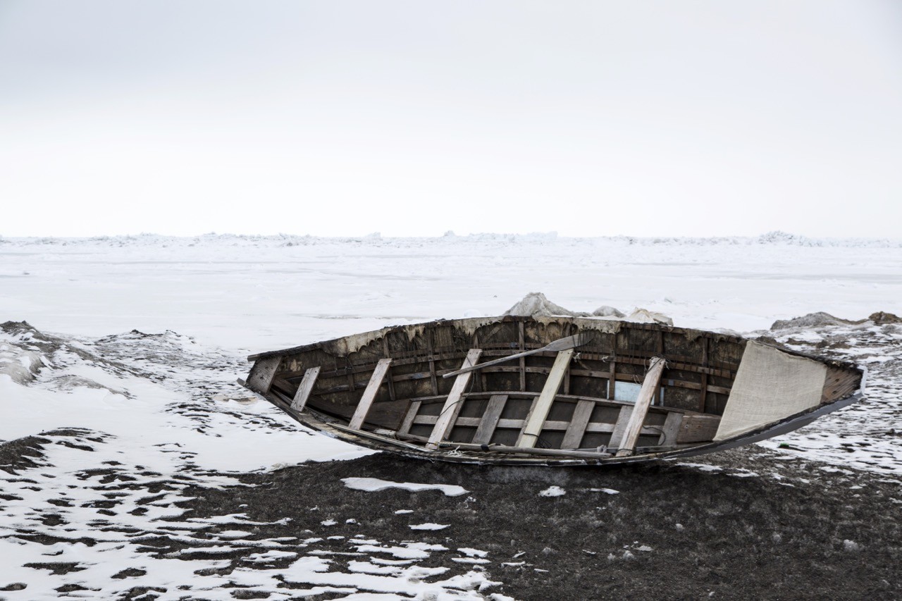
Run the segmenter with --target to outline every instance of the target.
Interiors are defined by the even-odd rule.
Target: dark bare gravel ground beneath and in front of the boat
[[[198,517],[291,518],[261,526],[266,538],[303,538],[300,532],[322,531],[321,521],[335,519],[330,532],[348,538],[365,533],[386,543],[416,538],[486,550],[492,563],[485,568],[503,582],[492,590],[523,600],[902,597],[897,479],[824,471],[760,448],[704,461],[706,467],[462,467],[378,454],[247,475],[252,487],[197,489],[187,506]],[[343,485],[349,476],[455,484],[470,493],[363,492]],[[566,495],[538,495],[551,485]],[[418,522],[450,527],[424,536],[410,531]]]

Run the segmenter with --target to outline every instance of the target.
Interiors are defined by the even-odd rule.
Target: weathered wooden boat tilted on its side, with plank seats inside
[[[246,383],[369,448],[484,464],[686,457],[861,398],[855,365],[696,329],[498,317],[384,328],[249,357]]]

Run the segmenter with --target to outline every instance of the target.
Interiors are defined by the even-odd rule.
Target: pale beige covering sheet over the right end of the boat
[[[816,407],[826,377],[827,366],[822,363],[749,341],[714,440],[757,430]]]

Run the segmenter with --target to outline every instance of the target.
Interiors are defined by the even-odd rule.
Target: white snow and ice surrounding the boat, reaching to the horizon
[[[781,233],[0,238],[0,321],[33,326],[0,330],[0,440],[44,432],[49,441],[41,443],[38,465],[0,466],[0,588],[27,584],[2,596],[51,599],[59,587],[78,585],[89,590],[71,595],[117,598],[133,587],[161,587],[167,592],[160,599],[232,599],[232,583],[276,600],[507,598],[482,592],[493,582],[482,550],[460,547],[454,557],[442,545],[380,541],[373,532],[329,537],[336,518],[354,518],[331,517],[327,507],[322,527],[299,534],[303,540],[260,539],[253,532],[261,523],[246,514],[197,518],[179,502],[195,485],[241,486],[243,472],[370,453],[300,428],[235,384],[246,375],[247,354],[388,325],[500,315],[536,291],[541,297],[531,302],[542,310],[767,335],[868,365],[865,401],[760,444],[822,469],[897,477],[902,324],[861,320],[875,311],[902,313],[899,264],[896,241]],[[818,312],[827,315],[794,319]],[[777,320],[784,323],[769,330]],[[344,484],[467,493],[458,485],[363,476]],[[151,501],[149,489],[159,489]],[[549,486],[539,495],[565,492]],[[411,537],[433,540],[419,527],[445,524],[429,517],[411,526]],[[389,508],[386,518],[395,519]],[[53,538],[41,544],[32,535]],[[187,548],[154,556],[143,550],[154,537]],[[240,550],[246,568],[217,575],[222,550]],[[632,557],[624,550],[612,559]],[[26,567],[56,562],[79,569]],[[140,574],[111,578],[126,569]],[[283,579],[302,587],[286,589]]]

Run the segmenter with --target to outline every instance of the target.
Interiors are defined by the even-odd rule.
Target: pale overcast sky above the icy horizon
[[[902,3],[0,0],[0,235],[902,238]]]

